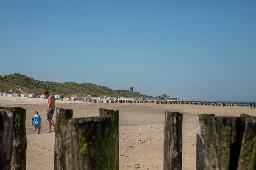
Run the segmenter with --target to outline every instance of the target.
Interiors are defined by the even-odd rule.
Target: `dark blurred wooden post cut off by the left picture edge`
[[[14,117],[11,110],[0,109],[0,169],[9,170],[12,155]]]

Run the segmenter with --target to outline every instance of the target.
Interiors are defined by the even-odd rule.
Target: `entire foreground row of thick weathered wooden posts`
[[[54,169],[119,169],[119,111],[56,109]],[[26,169],[26,110],[0,109],[0,169]],[[165,112],[164,167],[182,169],[183,114]],[[196,169],[256,169],[256,118],[197,115]],[[52,160],[53,161],[53,160]]]

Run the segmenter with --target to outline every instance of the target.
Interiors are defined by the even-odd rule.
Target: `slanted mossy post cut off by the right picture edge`
[[[246,118],[238,170],[256,169],[256,118]]]

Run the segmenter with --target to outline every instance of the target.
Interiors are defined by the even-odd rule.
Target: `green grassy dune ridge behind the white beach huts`
[[[108,87],[91,83],[38,81],[18,73],[0,77],[0,92],[17,94],[34,93],[36,97],[39,97],[39,95],[43,95],[45,90],[48,90],[51,94],[61,95],[62,97],[92,95],[95,97],[155,98],[148,97],[139,92],[112,90]]]

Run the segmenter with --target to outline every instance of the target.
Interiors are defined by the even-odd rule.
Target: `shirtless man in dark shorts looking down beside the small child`
[[[46,133],[52,132],[52,126],[54,127],[53,132],[56,131],[56,127],[54,124],[54,121],[52,120],[54,111],[55,111],[55,98],[53,95],[51,95],[48,91],[44,92],[44,95],[48,97],[48,110],[47,110],[47,120],[49,121],[49,131]]]

